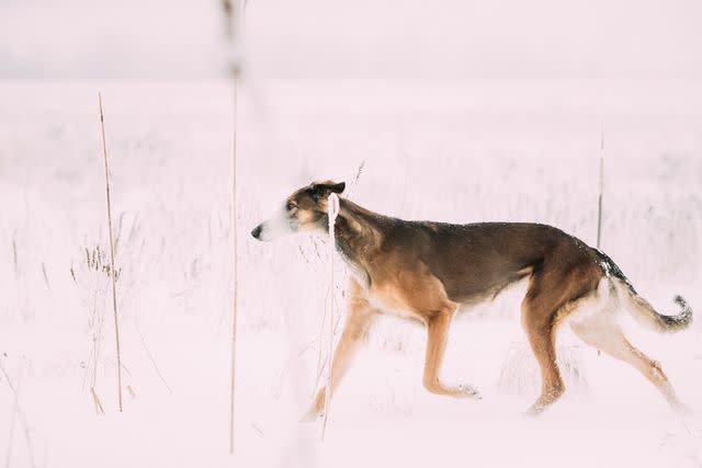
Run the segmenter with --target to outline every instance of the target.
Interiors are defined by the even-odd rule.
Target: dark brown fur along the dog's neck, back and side
[[[341,201],[336,235],[339,251],[364,271],[370,282],[377,255],[401,252],[395,259],[397,267],[422,263],[454,303],[494,295],[529,274],[537,275],[544,265],[559,263],[565,271],[597,265],[596,251],[551,226],[406,221],[371,213],[348,199]],[[599,279],[601,271],[595,270],[588,273],[596,273],[593,279]]]

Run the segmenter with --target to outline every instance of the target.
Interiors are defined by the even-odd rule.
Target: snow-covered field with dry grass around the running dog
[[[245,83],[231,457],[230,88],[0,82],[0,459],[9,467],[702,466],[700,321],[670,336],[627,329],[689,406],[684,421],[634,369],[580,346],[568,330],[561,345],[585,381],[570,381],[561,402],[528,419],[537,383],[519,326],[523,285],[466,311],[451,330],[443,375],[474,385],[483,400],[427,393],[423,330],[388,318],[332,401],[320,442],[318,424],[297,420],[315,387],[326,246],[248,236],[286,194],[333,178],[381,213],[547,222],[595,244],[603,129],[603,250],[659,310],[671,312],[679,293],[699,312],[700,84]],[[98,90],[118,239],[122,413],[103,271]]]

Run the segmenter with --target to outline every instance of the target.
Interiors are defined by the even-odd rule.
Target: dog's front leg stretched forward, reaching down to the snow
[[[341,332],[341,338],[339,339],[333,352],[333,359],[331,361],[330,396],[333,395],[344,374],[349,369],[351,361],[353,361],[353,357],[359,351],[361,342],[373,321],[373,317],[375,316],[375,310],[371,307],[367,300],[354,294],[358,289],[359,288],[351,287],[351,298],[349,300],[347,321],[343,327],[343,332]],[[326,387],[320,388],[304,420],[309,421],[324,415],[325,393]]]

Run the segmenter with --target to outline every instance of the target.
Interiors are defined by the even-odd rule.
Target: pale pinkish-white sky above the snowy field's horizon
[[[0,77],[207,78],[219,0],[0,0]],[[249,0],[264,78],[702,78],[699,0]]]

